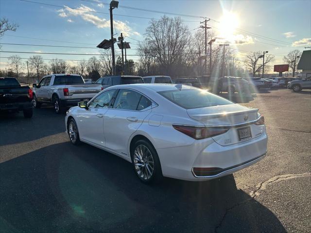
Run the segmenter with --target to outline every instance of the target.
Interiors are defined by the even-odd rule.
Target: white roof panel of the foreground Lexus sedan
[[[108,87],[109,89],[113,88],[131,88],[135,90],[153,90],[158,91],[171,91],[171,90],[181,90],[181,89],[199,89],[197,87],[184,85],[184,84],[171,84],[171,83],[135,83],[135,84],[123,84],[115,85]],[[106,88],[106,89],[108,89]],[[105,90],[106,90],[105,89]]]

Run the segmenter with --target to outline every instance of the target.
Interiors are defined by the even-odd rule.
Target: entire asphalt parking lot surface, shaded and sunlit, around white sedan
[[[0,232],[311,232],[311,90],[258,93],[259,163],[209,182],[139,182],[130,163],[73,146],[52,107],[0,116]]]

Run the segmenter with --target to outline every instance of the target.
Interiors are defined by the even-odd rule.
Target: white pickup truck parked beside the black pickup
[[[33,104],[40,108],[41,103],[50,103],[58,114],[67,106],[92,99],[101,90],[102,85],[86,84],[79,74],[51,74],[33,84]]]

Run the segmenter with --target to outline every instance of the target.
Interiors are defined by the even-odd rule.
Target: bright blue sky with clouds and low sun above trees
[[[0,0],[0,17],[6,17],[10,22],[19,25],[16,32],[7,32],[1,38],[0,43],[95,48],[103,39],[109,39],[110,37],[109,7],[108,5],[96,3],[96,1],[103,3],[109,3],[110,1],[29,1]],[[274,64],[282,64],[283,55],[286,55],[290,50],[304,50],[304,47],[311,46],[311,0],[120,0],[119,4],[120,6],[211,18],[208,25],[216,28],[215,31],[219,38],[225,37],[230,42],[230,46],[239,50],[237,59],[241,60],[244,59],[243,56],[247,51],[268,50],[269,54],[276,56]],[[74,10],[64,8],[64,6],[102,13]],[[143,40],[149,22],[149,19],[136,17],[159,18],[163,15],[122,7],[114,9],[113,12],[115,14],[115,33],[120,34],[122,32],[127,35],[128,37],[125,40],[130,42],[133,48],[133,50],[127,52],[128,54],[136,53],[136,40]],[[182,19],[186,21],[185,23],[190,30],[198,28],[200,26],[199,21],[204,20],[199,17],[182,17]],[[191,33],[194,34],[196,31],[192,30]],[[14,53],[3,51],[99,53],[98,49],[86,48],[3,44],[1,46],[1,69],[6,66],[7,62],[7,59],[3,57],[14,55]],[[18,55],[22,58],[28,58],[35,54],[19,53]],[[42,54],[42,57],[45,59],[87,60],[91,56]],[[128,56],[128,59],[137,60],[138,57]],[[69,63],[74,64],[75,62]]]

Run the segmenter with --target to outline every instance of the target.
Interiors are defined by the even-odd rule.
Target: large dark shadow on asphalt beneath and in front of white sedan
[[[286,232],[232,175],[149,186],[130,163],[86,144],[1,163],[0,177],[3,232]]]

